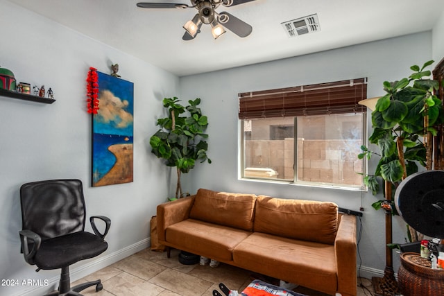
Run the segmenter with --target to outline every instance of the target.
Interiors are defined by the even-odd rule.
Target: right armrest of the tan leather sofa
[[[338,275],[338,292],[342,295],[357,294],[356,270],[356,217],[342,215],[334,241],[334,253]]]

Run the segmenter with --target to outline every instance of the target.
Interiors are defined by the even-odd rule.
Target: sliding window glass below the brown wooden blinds
[[[243,177],[362,187],[363,129],[363,113],[245,120]]]

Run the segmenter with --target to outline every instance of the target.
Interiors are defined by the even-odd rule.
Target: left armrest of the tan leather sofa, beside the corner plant
[[[167,227],[189,218],[194,198],[195,195],[192,195],[157,206],[157,236],[159,241],[165,241],[165,229]]]

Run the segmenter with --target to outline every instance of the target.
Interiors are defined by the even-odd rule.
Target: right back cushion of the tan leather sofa
[[[337,229],[334,202],[257,197],[255,232],[333,245]]]

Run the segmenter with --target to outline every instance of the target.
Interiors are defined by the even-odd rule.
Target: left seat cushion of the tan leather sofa
[[[180,250],[219,261],[232,261],[232,250],[251,232],[200,220],[187,219],[167,227],[166,238]]]

